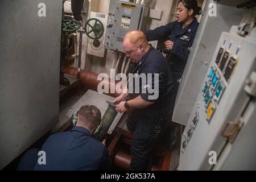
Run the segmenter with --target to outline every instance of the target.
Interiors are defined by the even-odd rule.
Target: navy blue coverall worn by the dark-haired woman
[[[175,97],[179,87],[177,80],[183,74],[198,26],[199,23],[194,18],[185,28],[182,28],[182,23],[175,21],[168,23],[166,26],[160,26],[154,30],[144,32],[148,41],[162,40],[168,37],[168,40],[174,42],[174,46],[167,54],[167,59],[174,72]]]

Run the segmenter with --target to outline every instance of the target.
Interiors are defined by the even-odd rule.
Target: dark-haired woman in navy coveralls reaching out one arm
[[[148,41],[168,39],[164,46],[168,50],[167,59],[174,72],[176,92],[179,86],[177,80],[183,74],[199,26],[195,16],[200,14],[201,7],[197,6],[196,0],[179,0],[175,22],[145,32]]]

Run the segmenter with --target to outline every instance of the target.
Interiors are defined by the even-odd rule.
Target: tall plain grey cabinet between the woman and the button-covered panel
[[[212,16],[213,1],[207,1],[187,65],[179,84],[172,121],[187,125],[188,117],[222,32],[229,32],[233,25],[242,20],[243,10],[230,6],[216,5],[217,16]],[[213,24],[217,26],[213,26]]]

